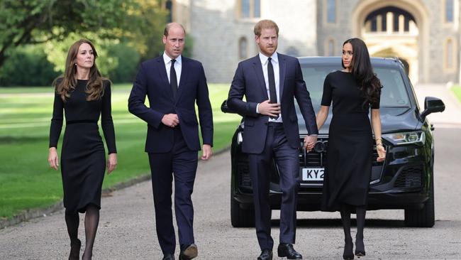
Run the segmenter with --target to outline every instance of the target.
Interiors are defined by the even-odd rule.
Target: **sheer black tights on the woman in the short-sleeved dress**
[[[341,221],[343,222],[345,249],[344,251],[352,251],[352,237],[350,235],[350,213],[352,212],[351,205],[341,206]],[[365,214],[367,210],[365,207],[355,207],[357,215],[357,234],[355,235],[355,250],[365,251],[363,244],[363,228],[365,227]],[[346,248],[347,247],[347,248]],[[347,249],[347,250],[346,250]]]

